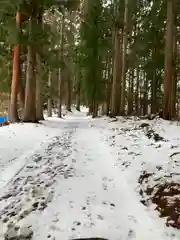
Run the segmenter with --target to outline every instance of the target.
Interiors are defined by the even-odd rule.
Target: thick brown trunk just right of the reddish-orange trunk
[[[36,54],[32,46],[28,46],[27,57],[27,78],[26,78],[26,94],[25,107],[23,114],[24,122],[37,122],[36,118]]]

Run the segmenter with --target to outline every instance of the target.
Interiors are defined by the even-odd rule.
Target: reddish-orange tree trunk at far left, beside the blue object
[[[22,26],[22,15],[21,13],[17,13],[16,15],[16,23],[19,34],[21,32]],[[20,52],[21,47],[20,43],[14,49],[14,58],[13,58],[13,74],[12,74],[12,84],[11,84],[11,98],[10,98],[10,106],[8,113],[8,120],[10,122],[18,122],[18,107],[17,107],[17,99],[18,99],[18,91],[20,85]]]

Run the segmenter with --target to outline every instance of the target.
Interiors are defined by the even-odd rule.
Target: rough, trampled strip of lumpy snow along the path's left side
[[[32,212],[44,211],[54,196],[53,185],[72,177],[74,169],[64,163],[71,155],[71,138],[75,128],[65,129],[34,152],[4,187],[0,196],[0,220],[7,226],[17,224]]]

